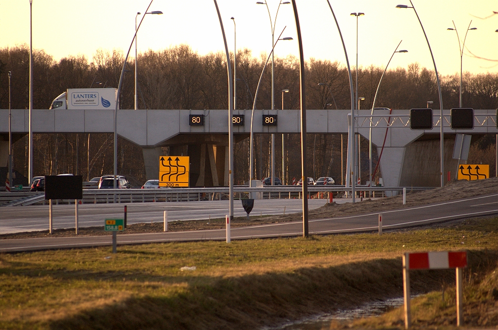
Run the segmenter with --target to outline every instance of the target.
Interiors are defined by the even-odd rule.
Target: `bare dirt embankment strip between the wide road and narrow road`
[[[403,196],[385,197],[376,200],[364,199],[357,203],[345,204],[326,204],[320,208],[309,211],[310,219],[323,219],[341,217],[353,214],[364,214],[371,212],[387,211],[401,209],[418,205],[444,202],[459,198],[473,197],[490,193],[498,193],[498,177],[492,177],[484,180],[460,180],[450,181],[444,187],[434,188],[431,190],[406,193],[406,205],[403,205]],[[358,200],[358,199],[357,199]],[[236,217],[232,221],[232,227],[243,227],[259,225],[263,223],[277,223],[285,221],[299,221],[302,219],[302,213],[274,215],[274,216],[251,216],[250,220],[246,217]],[[192,220],[192,221],[175,221],[168,224],[168,231],[187,231],[187,230],[207,230],[225,228],[224,219]],[[129,225],[124,234],[136,234],[147,232],[162,232],[163,224],[156,223],[136,223]],[[0,235],[0,239],[12,238],[34,238],[45,237],[50,235],[48,230],[37,232],[24,232],[14,234]],[[109,235],[102,227],[80,228],[79,235]],[[75,236],[74,229],[57,229],[52,236]]]

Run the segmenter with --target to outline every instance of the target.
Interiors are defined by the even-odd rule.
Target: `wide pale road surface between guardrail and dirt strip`
[[[346,199],[335,199],[346,202]],[[309,209],[325,205],[326,199],[309,199]],[[168,211],[168,221],[224,218],[229,201],[191,201],[158,203],[83,204],[78,205],[78,227],[104,226],[106,218],[123,218],[127,205],[127,223],[162,222]],[[250,215],[297,213],[302,211],[302,199],[262,199],[254,201]],[[234,201],[234,215],[245,216],[239,200]],[[48,205],[12,206],[0,208],[0,234],[47,230]],[[52,228],[75,228],[74,204],[52,205]]]

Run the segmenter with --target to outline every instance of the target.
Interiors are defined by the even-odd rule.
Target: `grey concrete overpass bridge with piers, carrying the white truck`
[[[351,110],[308,110],[307,132],[347,134],[350,113]],[[367,140],[370,114],[371,110],[360,110],[359,117],[355,118],[357,134]],[[235,110],[236,115],[242,122],[234,126],[235,141],[239,142],[249,137],[251,110]],[[439,110],[434,110],[432,130],[410,130],[408,115],[409,110],[392,110],[389,114],[389,109],[383,108],[374,112],[372,143],[378,153],[384,144],[380,161],[384,185],[439,186]],[[443,115],[444,169],[445,173],[454,173],[457,166],[457,161],[452,160],[455,135],[498,134],[496,110],[475,110],[474,130],[452,130],[450,111],[445,110]],[[33,133],[113,133],[113,110],[40,109],[33,110],[32,116]],[[14,141],[28,134],[28,110],[12,110],[11,119]],[[297,134],[299,127],[299,110],[254,112],[253,132],[256,134]],[[171,155],[190,156],[191,185],[228,185],[227,110],[119,110],[117,133],[142,148],[147,179],[157,178],[161,147],[169,146]],[[8,110],[0,109],[0,166],[6,166],[7,159]]]

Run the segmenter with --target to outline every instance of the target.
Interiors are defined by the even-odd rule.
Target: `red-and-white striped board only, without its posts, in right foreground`
[[[447,269],[467,267],[467,252],[408,253],[408,269]]]

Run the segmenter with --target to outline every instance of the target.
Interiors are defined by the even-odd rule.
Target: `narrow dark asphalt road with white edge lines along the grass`
[[[450,221],[455,219],[498,214],[498,194],[416,206],[401,210],[383,211],[383,229],[404,228],[423,224]],[[310,234],[331,234],[345,232],[376,231],[378,212],[355,216],[317,219],[309,221]],[[282,222],[233,228],[232,240],[299,236],[302,235],[302,222]],[[140,244],[170,241],[225,240],[225,230],[202,230],[188,232],[166,232],[151,234],[118,235],[120,244]],[[82,236],[67,238],[34,238],[1,240],[0,251],[32,251],[55,248],[76,248],[111,245],[109,236]],[[119,249],[119,247],[118,247]]]

